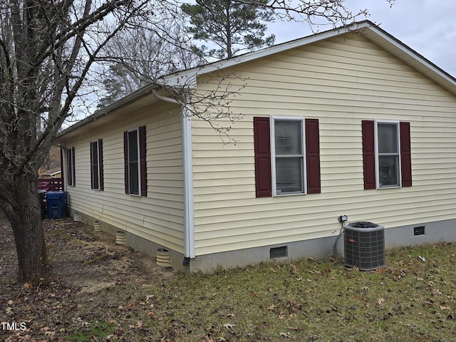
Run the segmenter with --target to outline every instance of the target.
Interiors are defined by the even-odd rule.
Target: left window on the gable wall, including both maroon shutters
[[[254,148],[257,197],[321,192],[317,119],[256,117]]]

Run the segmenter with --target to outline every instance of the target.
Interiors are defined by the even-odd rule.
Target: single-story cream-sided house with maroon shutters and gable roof
[[[71,214],[190,271],[332,254],[342,215],[456,241],[456,79],[370,21],[165,76],[56,143]]]

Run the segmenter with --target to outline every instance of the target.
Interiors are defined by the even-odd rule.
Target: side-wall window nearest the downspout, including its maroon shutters
[[[145,126],[125,131],[125,193],[147,196],[147,172],[145,162]]]

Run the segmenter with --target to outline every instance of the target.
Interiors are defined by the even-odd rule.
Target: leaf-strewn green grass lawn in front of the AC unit
[[[179,276],[138,319],[171,341],[456,341],[455,246],[387,258],[377,271],[326,259]]]

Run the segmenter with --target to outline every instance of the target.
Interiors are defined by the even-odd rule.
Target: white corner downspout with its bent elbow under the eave
[[[177,103],[182,106],[182,167],[184,181],[184,266],[188,266],[190,259],[195,258],[195,224],[193,217],[193,161],[192,161],[192,112],[190,105],[182,104],[175,98],[169,98],[157,93],[152,93],[159,100]]]

